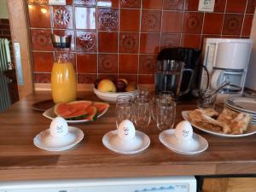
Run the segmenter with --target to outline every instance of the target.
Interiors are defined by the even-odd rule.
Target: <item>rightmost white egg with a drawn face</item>
[[[189,141],[193,137],[193,128],[189,121],[183,120],[179,122],[176,126],[174,135],[178,140]]]

